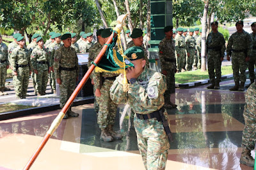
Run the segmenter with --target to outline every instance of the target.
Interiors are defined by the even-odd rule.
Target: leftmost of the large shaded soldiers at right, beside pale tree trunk
[[[221,62],[223,61],[226,50],[225,40],[223,35],[218,32],[218,22],[212,22],[211,27],[212,32],[209,33],[206,40],[208,73],[211,81],[211,85],[207,86],[207,89],[220,89]]]

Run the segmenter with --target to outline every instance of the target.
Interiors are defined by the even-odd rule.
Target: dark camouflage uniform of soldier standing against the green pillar
[[[166,97],[170,98],[171,93],[175,93],[175,72],[176,72],[176,59],[173,40],[166,39],[166,37],[159,43],[159,59],[161,69],[166,70],[166,83],[167,89],[164,93]]]

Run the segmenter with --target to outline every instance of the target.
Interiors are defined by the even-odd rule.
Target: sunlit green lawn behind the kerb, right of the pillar
[[[233,73],[232,66],[222,66],[221,75]],[[182,72],[175,74],[175,84],[182,84],[186,82],[199,81],[202,79],[209,79],[208,72],[201,72],[201,70]]]

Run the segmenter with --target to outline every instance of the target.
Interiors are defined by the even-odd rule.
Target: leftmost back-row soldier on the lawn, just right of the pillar
[[[182,36],[183,28],[179,27],[177,29],[177,35],[175,36],[175,51],[176,51],[176,60],[177,60],[177,67],[178,72],[184,72],[184,66],[185,66],[185,39]]]

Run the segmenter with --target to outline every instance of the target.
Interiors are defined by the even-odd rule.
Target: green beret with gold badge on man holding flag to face
[[[134,46],[125,50],[124,55],[131,61],[144,58],[144,50],[141,47]]]

